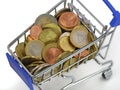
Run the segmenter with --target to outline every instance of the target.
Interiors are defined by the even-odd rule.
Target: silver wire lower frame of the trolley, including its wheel
[[[83,78],[81,78],[81,79],[79,79],[79,80],[77,80],[77,81],[74,80],[74,77],[73,77],[73,76],[63,76],[63,77],[65,77],[65,78],[70,78],[70,79],[72,79],[72,81],[71,81],[69,84],[67,84],[66,86],[64,86],[61,90],[65,90],[65,89],[67,89],[67,88],[70,88],[70,87],[72,87],[72,86],[74,86],[74,85],[76,85],[76,84],[78,84],[78,83],[80,83],[80,82],[83,82],[83,81],[85,81],[85,80],[87,80],[87,79],[89,79],[89,78],[92,78],[92,77],[94,77],[94,76],[96,76],[96,75],[98,75],[98,74],[100,74],[100,73],[102,73],[102,77],[103,77],[104,79],[106,79],[106,80],[110,79],[110,77],[112,76],[112,70],[111,70],[111,67],[112,67],[112,65],[113,65],[112,60],[109,60],[109,61],[106,61],[106,62],[100,62],[100,61],[98,61],[97,59],[95,59],[95,61],[96,61],[97,63],[99,63],[100,65],[102,65],[102,66],[103,66],[103,65],[107,65],[107,64],[109,64],[109,66],[104,67],[104,68],[102,68],[102,69],[100,69],[100,70],[98,70],[98,71],[96,71],[96,72],[94,72],[94,73],[92,73],[92,74],[90,74],[90,75],[87,75],[87,76],[85,76],[85,77],[83,77]]]

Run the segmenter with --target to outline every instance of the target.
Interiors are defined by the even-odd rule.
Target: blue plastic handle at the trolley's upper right
[[[120,13],[112,6],[112,4],[108,0],[103,1],[113,13],[113,19],[110,22],[111,27],[116,27],[120,25]]]

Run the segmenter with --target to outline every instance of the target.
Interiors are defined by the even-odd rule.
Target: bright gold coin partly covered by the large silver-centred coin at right
[[[75,47],[70,43],[69,37],[65,36],[59,39],[59,46],[63,51],[73,52]]]

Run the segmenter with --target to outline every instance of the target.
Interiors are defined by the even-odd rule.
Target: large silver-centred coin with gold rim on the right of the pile
[[[87,45],[88,42],[88,30],[83,25],[78,25],[73,28],[70,35],[71,43],[77,47],[82,48]]]

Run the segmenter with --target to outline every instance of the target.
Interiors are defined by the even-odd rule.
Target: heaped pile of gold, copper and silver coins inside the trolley
[[[64,8],[54,16],[38,16],[26,40],[16,46],[15,52],[31,74],[36,75],[93,40],[92,33],[81,23],[79,17],[69,8]],[[92,46],[91,51],[86,49],[74,56],[70,63],[73,64],[79,57],[84,58],[95,51],[94,47]],[[68,66],[69,60],[63,64],[63,69]],[[56,67],[54,72],[57,73],[58,69]]]

